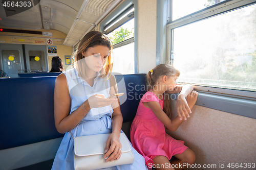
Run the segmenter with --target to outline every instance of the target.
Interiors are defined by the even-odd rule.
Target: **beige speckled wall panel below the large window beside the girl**
[[[177,115],[176,103],[172,103],[172,117]],[[196,155],[194,164],[200,164],[201,168],[204,164],[210,166],[204,169],[221,169],[223,164],[227,168],[229,163],[255,162],[256,119],[197,105],[191,111],[175,132],[166,133],[185,141]]]

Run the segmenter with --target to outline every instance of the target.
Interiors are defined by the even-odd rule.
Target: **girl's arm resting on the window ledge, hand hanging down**
[[[188,94],[191,93],[192,90],[193,90],[193,86],[191,86],[190,84],[177,85],[173,91],[167,90],[167,93],[180,93],[177,98],[176,108],[177,108],[177,114],[181,120],[182,120],[182,117],[184,120],[186,120],[186,117],[189,117],[188,113],[191,113],[191,110],[187,105],[186,97]]]

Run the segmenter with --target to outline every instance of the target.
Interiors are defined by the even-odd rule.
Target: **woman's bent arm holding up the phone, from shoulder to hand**
[[[113,103],[115,99],[105,99],[103,94],[90,96],[84,102],[87,111],[94,107],[103,107]],[[89,105],[89,102],[91,105]],[[71,100],[66,76],[60,74],[55,80],[54,87],[54,120],[59,133],[66,133],[74,129],[87,114],[82,104],[72,114],[70,113]]]

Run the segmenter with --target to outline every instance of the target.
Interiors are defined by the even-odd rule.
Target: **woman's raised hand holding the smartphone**
[[[94,94],[88,98],[91,109],[111,105],[116,100],[105,98],[104,94]]]

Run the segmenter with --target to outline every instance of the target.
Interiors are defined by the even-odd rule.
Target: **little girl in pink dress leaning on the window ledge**
[[[140,103],[131,127],[133,147],[145,158],[148,168],[184,169],[183,163],[193,164],[195,154],[183,141],[175,140],[165,133],[165,127],[175,131],[189,117],[190,109],[197,101],[198,92],[191,85],[177,85],[180,72],[169,64],[160,64],[147,74],[150,90]],[[191,92],[192,91],[192,92]],[[178,116],[170,120],[169,96],[178,93]],[[187,98],[187,99],[185,99]],[[169,162],[175,156],[177,159]],[[169,164],[171,163],[171,164]]]

